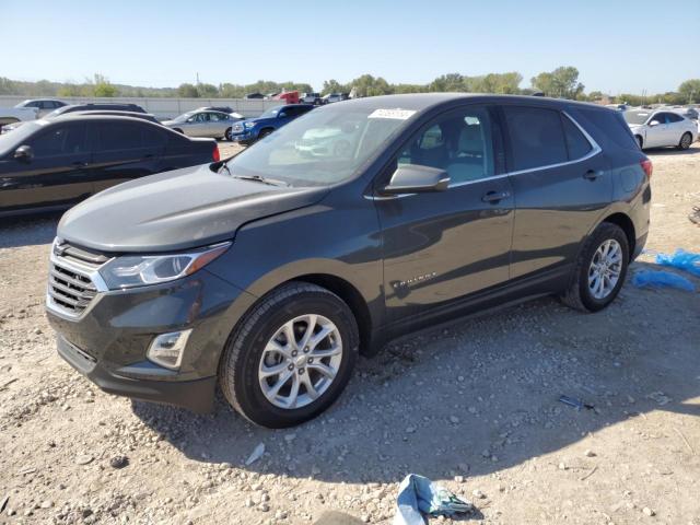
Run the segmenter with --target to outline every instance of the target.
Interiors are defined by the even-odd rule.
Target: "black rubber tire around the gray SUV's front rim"
[[[323,315],[338,328],[342,359],[334,381],[320,396],[301,408],[280,408],[265,397],[258,368],[268,341],[294,317]],[[359,331],[352,312],[325,288],[292,281],[262,298],[231,334],[219,364],[219,384],[231,406],[253,423],[282,429],[303,423],[326,410],[340,396],[359,353]],[[308,373],[308,372],[307,372]]]

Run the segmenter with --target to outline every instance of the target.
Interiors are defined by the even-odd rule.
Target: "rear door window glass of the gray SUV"
[[[504,106],[511,138],[512,170],[532,170],[569,160],[559,112]]]

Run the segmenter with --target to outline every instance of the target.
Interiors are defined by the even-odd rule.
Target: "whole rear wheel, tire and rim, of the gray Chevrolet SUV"
[[[561,300],[582,312],[597,312],[620,292],[629,266],[629,242],[620,226],[600,224],[586,240]]]

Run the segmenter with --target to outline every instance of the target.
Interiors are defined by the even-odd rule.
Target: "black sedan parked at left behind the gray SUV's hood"
[[[0,136],[0,215],[70,208],[125,180],[218,161],[213,140],[143,119],[35,120]]]

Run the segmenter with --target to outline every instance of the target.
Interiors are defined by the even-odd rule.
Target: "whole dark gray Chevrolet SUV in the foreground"
[[[328,154],[296,144],[324,137]],[[50,255],[58,351],[106,392],[306,421],[360,353],[541,295],[607,306],[642,250],[652,165],[621,115],[541,97],[377,96],[228,162],[107,189]]]

